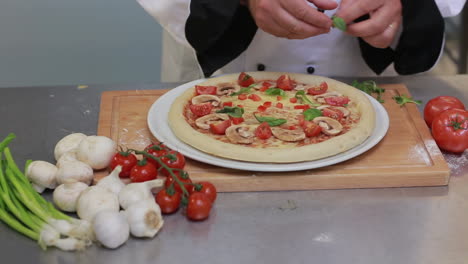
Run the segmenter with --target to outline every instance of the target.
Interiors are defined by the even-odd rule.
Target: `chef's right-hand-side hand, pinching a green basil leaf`
[[[369,19],[351,24],[366,14],[370,15]],[[348,34],[361,37],[376,48],[387,48],[401,24],[401,1],[343,0],[336,15],[348,24]]]

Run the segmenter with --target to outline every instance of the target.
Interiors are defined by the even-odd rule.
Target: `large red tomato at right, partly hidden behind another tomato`
[[[424,106],[424,121],[431,127],[434,118],[448,109],[462,109],[465,110],[463,103],[452,96],[437,96],[432,98]]]

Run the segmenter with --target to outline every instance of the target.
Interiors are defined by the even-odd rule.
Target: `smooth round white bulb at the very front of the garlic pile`
[[[130,226],[119,212],[104,210],[96,214],[93,230],[97,241],[107,248],[118,248],[130,236]]]

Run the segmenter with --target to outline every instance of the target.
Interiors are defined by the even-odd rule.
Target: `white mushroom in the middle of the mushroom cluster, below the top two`
[[[90,185],[93,181],[94,173],[93,169],[84,162],[63,161],[60,163],[56,177],[59,184],[83,182]]]

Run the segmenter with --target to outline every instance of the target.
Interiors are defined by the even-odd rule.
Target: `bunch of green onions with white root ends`
[[[60,212],[33,189],[7,147],[14,138],[9,134],[0,142],[0,220],[43,249],[55,246],[71,251],[89,246],[91,224]]]

